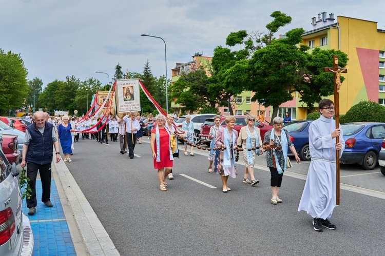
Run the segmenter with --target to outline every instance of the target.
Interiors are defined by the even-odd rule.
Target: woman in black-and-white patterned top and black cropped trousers
[[[272,204],[282,203],[282,199],[278,198],[278,191],[281,187],[283,171],[286,170],[286,158],[287,149],[295,155],[297,163],[299,163],[299,157],[297,151],[294,148],[293,142],[290,140],[290,136],[285,129],[282,129],[283,120],[277,116],[273,119],[274,128],[265,133],[263,140],[263,148],[266,152],[267,167],[270,169],[271,180],[270,185],[272,187]]]

